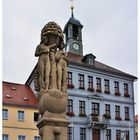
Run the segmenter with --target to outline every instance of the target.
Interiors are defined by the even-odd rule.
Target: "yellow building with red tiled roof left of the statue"
[[[3,82],[2,140],[40,140],[37,99],[26,85]]]

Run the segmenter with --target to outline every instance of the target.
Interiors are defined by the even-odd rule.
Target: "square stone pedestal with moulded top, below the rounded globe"
[[[47,119],[40,120],[37,124],[41,140],[67,140],[68,120]]]

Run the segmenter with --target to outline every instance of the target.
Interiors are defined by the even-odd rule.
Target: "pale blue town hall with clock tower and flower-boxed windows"
[[[64,33],[69,58],[68,140],[135,140],[135,76],[83,56],[82,27],[72,13]],[[33,76],[26,82],[34,93]]]

